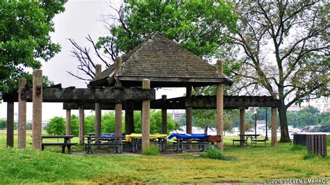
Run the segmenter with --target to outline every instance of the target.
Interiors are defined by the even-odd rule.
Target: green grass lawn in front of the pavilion
[[[31,143],[30,136],[31,132],[26,143]],[[290,143],[278,143],[277,147],[270,147],[270,143],[267,147],[261,147],[262,143],[260,147],[232,147],[231,138],[225,137],[223,154],[234,160],[218,161],[190,152],[173,156],[68,155],[58,153],[59,147],[38,151],[31,150],[30,145],[26,150],[17,150],[6,148],[6,132],[0,131],[0,184],[265,183],[266,179],[330,178],[329,156],[304,160],[306,150],[291,151]]]

